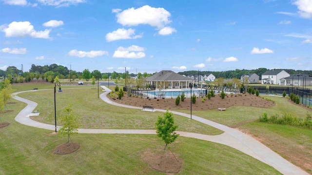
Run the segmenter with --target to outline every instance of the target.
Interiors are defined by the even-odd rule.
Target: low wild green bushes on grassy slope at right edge
[[[266,123],[290,125],[290,126],[312,129],[312,117],[308,113],[307,113],[307,117],[305,117],[304,119],[300,118],[300,117],[292,116],[291,114],[284,114],[282,117],[279,117],[276,114],[276,115],[273,115],[271,117],[268,117],[267,113],[263,113],[259,117],[259,121],[260,122],[266,122]]]

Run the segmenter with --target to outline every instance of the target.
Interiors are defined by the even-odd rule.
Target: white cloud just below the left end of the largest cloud
[[[137,39],[137,38],[142,38],[142,35],[135,35],[135,30],[134,29],[117,29],[116,31],[110,32],[106,34],[105,38],[106,41],[114,41],[118,39]]]

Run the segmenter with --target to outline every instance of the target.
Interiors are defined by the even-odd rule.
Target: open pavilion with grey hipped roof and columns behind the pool
[[[157,89],[179,89],[189,88],[190,84],[193,84],[194,80],[173,71],[163,70],[151,77],[146,78],[146,81],[148,84],[155,86]]]

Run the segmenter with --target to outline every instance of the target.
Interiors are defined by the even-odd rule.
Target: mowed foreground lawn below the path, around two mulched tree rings
[[[161,151],[163,141],[156,135],[77,134],[80,144],[69,155],[53,153],[66,138],[52,131],[22,125],[14,117],[26,105],[12,100],[10,113],[1,121],[10,125],[0,129],[1,175],[165,175],[153,170],[141,155],[147,150]],[[208,141],[178,137],[172,151],[183,159],[179,175],[278,175],[272,167],[231,147]]]

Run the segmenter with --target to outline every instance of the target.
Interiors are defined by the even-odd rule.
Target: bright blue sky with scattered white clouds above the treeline
[[[312,70],[312,0],[0,0],[0,69]]]

